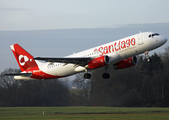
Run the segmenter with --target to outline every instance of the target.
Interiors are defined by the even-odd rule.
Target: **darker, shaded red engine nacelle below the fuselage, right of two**
[[[116,64],[114,64],[114,69],[124,69],[124,68],[128,68],[131,66],[134,66],[137,64],[137,57],[129,57],[127,59],[124,59]]]

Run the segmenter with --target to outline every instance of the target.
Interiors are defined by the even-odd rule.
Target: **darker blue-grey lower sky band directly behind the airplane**
[[[132,24],[116,28],[0,31],[0,72],[6,68],[19,68],[9,47],[15,43],[20,44],[34,57],[64,57],[139,31],[154,31],[169,38],[169,23]],[[150,54],[162,53],[167,46],[168,42],[150,51]]]

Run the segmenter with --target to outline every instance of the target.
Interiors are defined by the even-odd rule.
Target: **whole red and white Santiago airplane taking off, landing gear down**
[[[108,79],[109,67],[124,69],[134,66],[138,62],[136,55],[142,53],[145,53],[147,62],[150,62],[149,51],[166,42],[167,38],[158,33],[140,32],[63,58],[33,57],[19,44],[13,44],[10,47],[21,73],[5,75],[12,75],[16,80],[44,80],[85,72],[83,77],[90,79],[92,75],[89,71],[104,67],[105,73],[102,77]]]

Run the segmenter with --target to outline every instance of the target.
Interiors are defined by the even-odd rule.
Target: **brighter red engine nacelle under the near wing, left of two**
[[[95,69],[95,68],[105,66],[107,64],[109,64],[109,57],[107,55],[105,55],[105,56],[101,56],[101,57],[98,57],[98,58],[91,60],[88,63],[88,67],[90,69]]]

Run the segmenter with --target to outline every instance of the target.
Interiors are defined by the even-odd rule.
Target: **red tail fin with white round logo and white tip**
[[[37,63],[33,59],[33,56],[24,50],[21,46],[14,44],[10,47],[22,72],[39,69]]]

